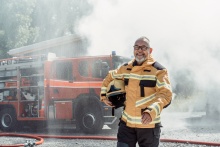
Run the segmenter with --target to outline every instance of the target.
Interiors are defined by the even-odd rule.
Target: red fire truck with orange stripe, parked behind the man
[[[85,133],[114,127],[114,109],[100,102],[103,78],[129,61],[118,55],[0,60],[0,129],[73,124]]]

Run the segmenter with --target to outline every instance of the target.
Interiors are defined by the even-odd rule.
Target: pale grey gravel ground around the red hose
[[[164,112],[162,115],[162,132],[161,139],[188,140],[198,142],[215,142],[220,143],[220,121],[205,116],[205,113],[169,113]],[[19,132],[25,133],[25,132]],[[39,132],[43,134],[44,132]],[[60,130],[50,131],[51,135],[85,135],[62,128]],[[111,130],[107,126],[98,136],[113,136],[116,137],[117,131]],[[37,134],[36,134],[37,135]],[[89,135],[91,136],[91,135]],[[8,144],[23,144],[30,141],[29,138],[22,137],[0,137],[0,145]],[[34,142],[34,140],[31,140]],[[44,138],[44,143],[39,147],[115,147],[116,140],[94,140],[94,139],[55,139]],[[160,147],[207,147],[208,145],[189,144],[189,143],[168,143],[160,142]],[[210,146],[210,145],[209,145]],[[137,145],[138,147],[138,145]],[[212,146],[210,146],[212,147]]]

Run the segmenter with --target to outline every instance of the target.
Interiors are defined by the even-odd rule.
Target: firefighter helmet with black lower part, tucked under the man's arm
[[[124,81],[115,79],[109,83],[106,97],[112,102],[115,109],[124,106],[125,95]]]

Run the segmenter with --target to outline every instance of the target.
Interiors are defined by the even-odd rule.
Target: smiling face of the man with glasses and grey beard
[[[145,40],[137,40],[134,44],[134,56],[138,64],[143,63],[149,54],[150,46]]]

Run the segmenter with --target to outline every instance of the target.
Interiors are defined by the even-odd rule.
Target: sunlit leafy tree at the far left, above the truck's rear
[[[1,58],[7,51],[33,41],[36,29],[31,26],[35,0],[0,1],[0,49]]]

